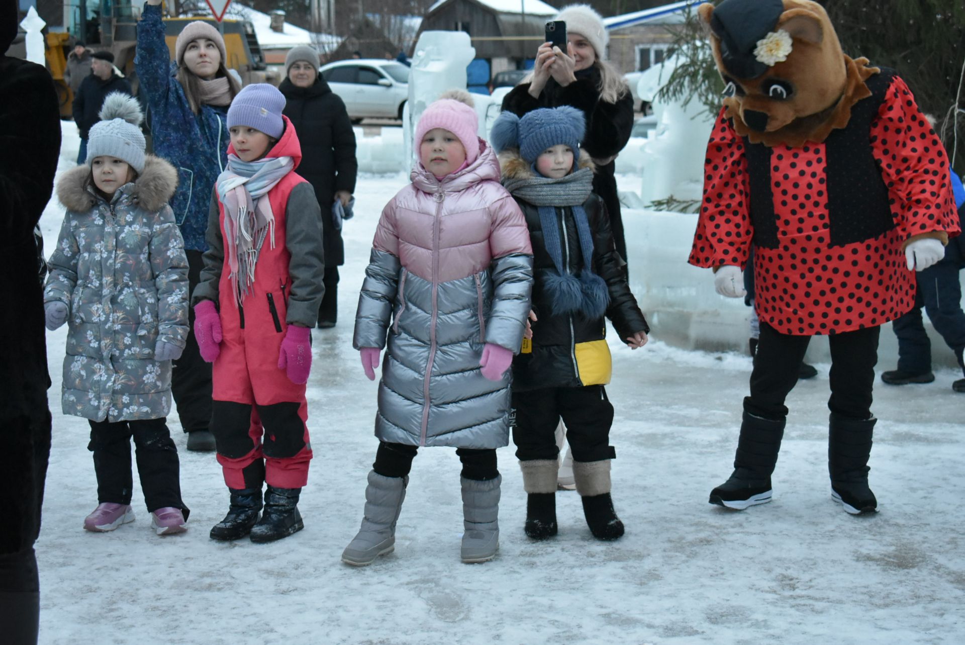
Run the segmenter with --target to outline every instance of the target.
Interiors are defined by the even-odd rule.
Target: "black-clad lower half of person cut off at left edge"
[[[41,532],[43,482],[50,456],[50,414],[0,420],[6,447],[0,472],[9,490],[0,522],[0,625],[3,642],[33,645],[40,619],[40,579],[34,542]]]

